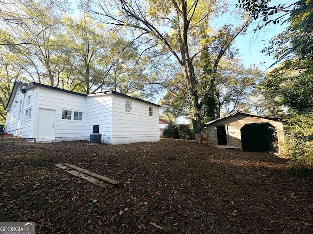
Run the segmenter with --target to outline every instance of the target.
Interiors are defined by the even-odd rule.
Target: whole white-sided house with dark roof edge
[[[115,91],[81,94],[15,82],[5,132],[34,141],[90,140],[128,144],[159,141],[159,105]]]

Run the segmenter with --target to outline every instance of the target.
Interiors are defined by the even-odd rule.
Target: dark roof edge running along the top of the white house
[[[115,95],[119,95],[119,96],[122,96],[124,98],[130,98],[130,99],[134,99],[134,100],[137,100],[137,101],[141,101],[141,102],[144,102],[144,103],[147,103],[147,104],[150,104],[150,105],[154,105],[154,106],[157,106],[157,107],[161,107],[160,105],[157,105],[155,103],[152,103],[152,102],[149,102],[149,101],[145,101],[145,100],[142,100],[142,99],[139,99],[139,98],[134,98],[134,97],[131,97],[131,96],[128,96],[126,94],[121,94],[121,93],[118,93],[116,91],[113,91],[113,90],[108,90],[108,91],[104,91],[104,92],[99,92],[99,93],[95,93],[95,94],[81,94],[81,93],[77,93],[77,92],[74,92],[74,91],[69,91],[69,90],[66,90],[66,89],[60,89],[60,88],[57,88],[57,87],[53,87],[53,86],[49,86],[49,85],[45,85],[45,84],[40,84],[40,83],[36,83],[36,82],[32,82],[32,83],[22,83],[22,82],[14,82],[14,85],[13,85],[13,89],[12,89],[12,92],[11,92],[11,95],[10,95],[10,98],[9,98],[9,101],[5,107],[5,109],[9,109],[11,107],[11,104],[12,104],[12,100],[18,90],[17,87],[21,87],[21,89],[24,89],[24,90],[27,90],[27,89],[31,89],[31,88],[34,88],[36,86],[39,86],[39,87],[44,87],[44,88],[47,88],[47,89],[52,89],[52,90],[57,90],[57,91],[61,91],[61,92],[65,92],[65,93],[69,93],[69,94],[75,94],[75,95],[79,95],[79,96],[85,96],[85,97],[88,97],[88,96],[92,96],[92,95],[97,95],[97,94],[115,94]]]

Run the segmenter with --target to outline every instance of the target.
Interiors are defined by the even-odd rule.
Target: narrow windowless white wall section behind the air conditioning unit
[[[90,140],[93,125],[99,125],[102,142],[112,144],[112,94],[92,95],[86,99],[85,136]]]

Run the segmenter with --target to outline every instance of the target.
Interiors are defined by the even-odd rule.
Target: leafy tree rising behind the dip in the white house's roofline
[[[109,54],[111,35],[105,35],[101,25],[95,25],[88,14],[75,21],[68,18],[64,40],[67,40],[67,63],[71,69],[75,88],[83,88],[84,93],[94,93],[104,87],[113,62]],[[115,38],[114,38],[115,39]],[[68,73],[67,73],[68,74]]]

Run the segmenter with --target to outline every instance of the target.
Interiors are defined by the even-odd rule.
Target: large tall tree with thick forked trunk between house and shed
[[[157,46],[160,52],[167,51],[176,59],[184,78],[184,104],[192,119],[196,142],[199,143],[203,122],[201,110],[210,85],[207,84],[200,92],[194,59],[204,49],[217,47],[210,71],[210,74],[214,74],[220,59],[249,22],[246,19],[235,29],[225,25],[214,32],[217,36],[212,36],[209,21],[223,7],[225,4],[218,5],[215,1],[206,0],[118,0],[88,6],[89,12],[101,22],[118,28],[132,28],[133,33],[138,32],[136,39],[147,36],[148,48]]]

